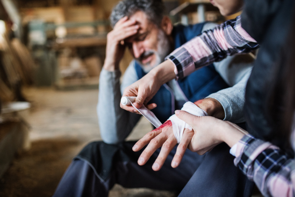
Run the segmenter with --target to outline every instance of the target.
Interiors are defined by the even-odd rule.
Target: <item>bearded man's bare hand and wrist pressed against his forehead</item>
[[[119,62],[125,51],[124,40],[138,32],[139,26],[135,20],[129,20],[127,16],[121,18],[114,29],[107,35],[106,59],[104,69],[114,71],[118,69]]]

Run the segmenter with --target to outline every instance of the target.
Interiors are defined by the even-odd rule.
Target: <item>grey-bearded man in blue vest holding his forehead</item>
[[[163,12],[160,0],[123,0],[113,9],[114,29],[108,34],[97,108],[104,142],[90,143],[81,151],[61,179],[55,197],[106,197],[115,183],[127,188],[182,190],[184,196],[251,195],[253,183],[232,164],[229,148],[223,144],[203,156],[186,151],[177,168],[171,167],[174,148],[161,170],[153,171],[152,162],[137,164],[141,152],[132,151],[135,142],[124,142],[141,116],[119,107],[121,92],[162,63],[174,49],[202,31],[214,28],[212,23],[173,27]],[[125,47],[134,60],[120,85],[118,65]],[[242,123],[245,84],[252,69],[250,62],[252,59],[247,55],[230,57],[181,81],[172,80],[160,88],[147,107],[163,123],[186,101],[202,99],[196,104],[208,115]]]

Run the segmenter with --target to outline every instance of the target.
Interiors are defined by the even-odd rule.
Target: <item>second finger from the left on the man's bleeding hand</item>
[[[139,165],[144,165],[147,163],[150,156],[162,146],[162,144],[167,140],[168,136],[164,133],[160,133],[158,136],[150,140],[147,148],[144,152],[140,155],[138,159]]]

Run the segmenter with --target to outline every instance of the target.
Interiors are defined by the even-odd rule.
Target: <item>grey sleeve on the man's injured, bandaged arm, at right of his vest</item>
[[[213,29],[214,23],[206,23],[202,32]],[[221,62],[214,63],[216,71],[221,75],[230,88],[209,95],[222,105],[226,121],[233,123],[245,122],[244,104],[246,84],[252,71],[254,59],[248,55],[228,56]]]

